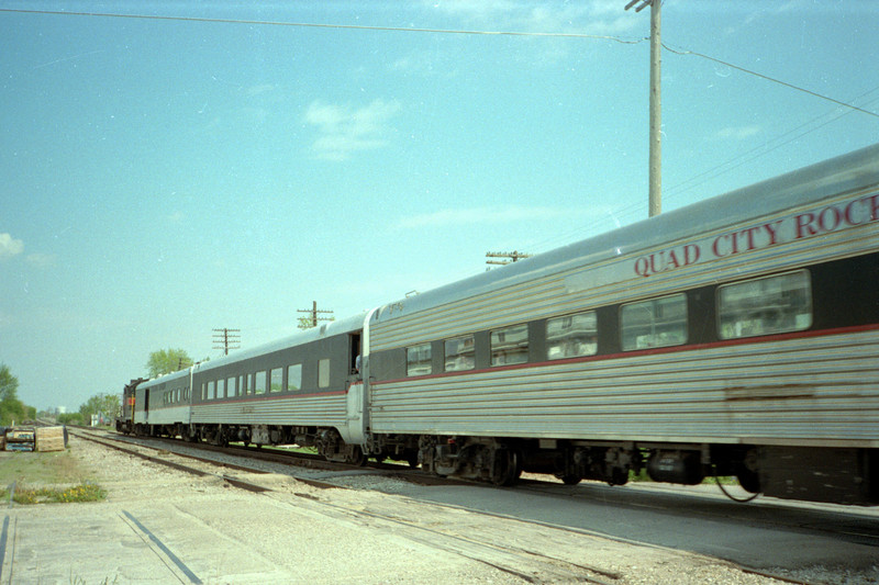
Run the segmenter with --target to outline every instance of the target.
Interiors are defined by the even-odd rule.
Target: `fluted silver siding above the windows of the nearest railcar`
[[[839,204],[855,196],[848,193],[828,199],[823,204]],[[759,221],[768,223],[790,213],[791,210],[785,210]],[[749,224],[756,222],[754,220]],[[730,226],[725,226],[710,233],[693,233],[687,238],[666,241],[659,247],[628,251],[594,263],[580,263],[571,258],[564,262],[564,267],[559,266],[557,272],[544,268],[531,280],[469,297],[455,297],[453,294],[448,302],[423,311],[382,317],[371,325],[370,351],[405,347],[608,304],[661,296],[706,283],[739,280],[879,249],[879,222],[870,222],[646,278],[635,277],[633,273],[630,280],[580,291],[570,291],[567,285],[569,279],[580,274],[589,274],[590,271],[614,265],[627,269],[641,256],[683,246],[697,238],[716,237],[728,230]]]

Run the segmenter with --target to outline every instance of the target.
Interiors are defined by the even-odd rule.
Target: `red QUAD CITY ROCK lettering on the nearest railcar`
[[[638,257],[635,274],[650,277],[699,262],[759,250],[879,220],[879,193],[791,215]]]

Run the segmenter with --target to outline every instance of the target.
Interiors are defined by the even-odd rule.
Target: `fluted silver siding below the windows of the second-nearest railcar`
[[[338,426],[346,424],[345,394],[280,396],[192,405],[192,424]]]

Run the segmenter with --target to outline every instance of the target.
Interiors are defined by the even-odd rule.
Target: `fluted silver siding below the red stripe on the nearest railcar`
[[[879,331],[372,386],[374,432],[879,447]]]

